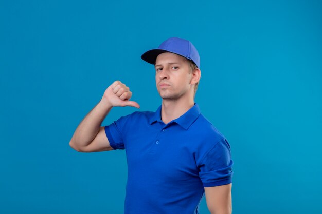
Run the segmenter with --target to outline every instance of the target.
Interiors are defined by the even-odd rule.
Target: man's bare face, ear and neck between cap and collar
[[[174,53],[159,54],[155,61],[155,83],[162,98],[162,121],[167,124],[179,118],[193,105],[194,84],[198,83],[201,71],[189,72],[188,61]],[[167,86],[162,86],[167,84]]]

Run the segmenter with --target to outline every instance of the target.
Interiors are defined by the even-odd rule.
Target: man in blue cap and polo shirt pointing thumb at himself
[[[140,107],[129,101],[129,87],[115,81],[77,127],[70,146],[80,152],[126,150],[126,214],[198,214],[204,194],[212,214],[231,213],[230,145],[194,103],[198,51],[172,37],[141,58],[155,65],[162,105],[101,126],[114,106]]]

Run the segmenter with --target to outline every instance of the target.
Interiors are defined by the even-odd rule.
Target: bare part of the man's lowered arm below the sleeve
[[[231,183],[204,188],[207,207],[211,214],[231,214]]]

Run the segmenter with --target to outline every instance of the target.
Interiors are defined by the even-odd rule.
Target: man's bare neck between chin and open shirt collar
[[[178,99],[178,100],[162,100],[161,119],[167,124],[170,121],[180,118],[181,115],[186,113],[191,107],[193,107],[194,101],[191,96],[190,99]]]

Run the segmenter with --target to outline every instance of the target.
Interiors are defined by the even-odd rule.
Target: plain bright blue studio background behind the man
[[[195,102],[231,145],[233,213],[321,213],[321,11],[321,1],[2,0],[0,212],[122,213],[124,150],[80,153],[69,140],[115,80],[155,111],[140,55],[177,36],[201,56]],[[136,110],[115,107],[102,126]]]

